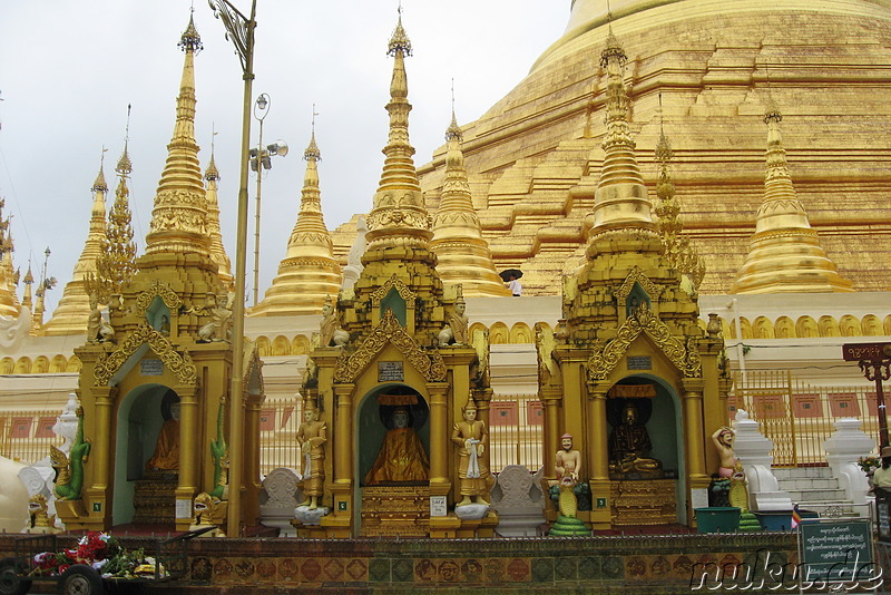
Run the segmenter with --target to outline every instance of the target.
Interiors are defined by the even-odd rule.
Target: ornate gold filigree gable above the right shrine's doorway
[[[684,377],[698,378],[702,375],[703,365],[695,339],[687,339],[685,347],[681,339],[672,335],[668,326],[646,306],[646,303],[643,303],[619,328],[614,340],[603,349],[598,345],[593,350],[594,352],[588,359],[588,380],[606,379],[642,332],[646,332],[653,339]]]

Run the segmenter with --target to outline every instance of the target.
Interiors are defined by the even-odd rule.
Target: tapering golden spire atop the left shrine
[[[176,101],[176,126],[155,196],[146,255],[187,252],[209,259],[207,199],[195,143],[195,55],[200,51],[202,42],[192,17],[179,47],[186,56]]]

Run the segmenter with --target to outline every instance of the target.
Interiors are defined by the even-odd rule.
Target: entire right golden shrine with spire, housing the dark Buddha
[[[536,329],[545,472],[561,479],[555,453],[569,433],[582,452],[580,477],[599,503],[578,513],[590,528],[692,523],[687,490],[708,486],[702,436],[706,421],[724,416],[723,341],[699,329],[695,292],[685,289],[653,220],[630,131],[625,61],[610,29],[601,51],[605,155],[586,262],[564,283],[558,328]],[[631,442],[634,451],[623,450]],[[685,475],[675,475],[678,469]],[[640,501],[650,513],[640,511]],[[549,515],[555,528],[584,529]]]

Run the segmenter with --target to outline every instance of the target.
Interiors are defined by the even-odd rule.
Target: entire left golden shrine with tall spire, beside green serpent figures
[[[253,518],[260,506],[263,382],[251,342],[244,368],[232,369],[232,305],[212,257],[194,136],[194,59],[202,42],[192,18],[179,47],[185,60],[176,124],[145,254],[120,294],[111,295],[97,335],[75,350],[82,362],[78,394],[91,450],[82,490],[57,507],[74,530],[121,523],[184,530],[194,500],[202,492],[225,498],[228,482],[242,491],[239,518]],[[229,428],[224,413],[235,373],[244,378],[244,423]],[[244,474],[229,478],[233,431],[244,437]],[[225,525],[228,501],[214,506]]]

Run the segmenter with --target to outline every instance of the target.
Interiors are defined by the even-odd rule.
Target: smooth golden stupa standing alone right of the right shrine
[[[811,228],[804,205],[795,194],[786,150],[780,134],[783,116],[767,110],[767,172],[764,201],[748,243],[745,264],[731,293],[826,293],[854,291],[842,279]]]

